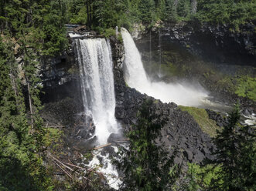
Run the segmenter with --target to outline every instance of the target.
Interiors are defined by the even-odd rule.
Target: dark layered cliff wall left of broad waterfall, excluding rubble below
[[[72,43],[67,52],[41,59],[40,76],[43,82],[43,103],[57,102],[67,97],[80,100],[80,77]]]

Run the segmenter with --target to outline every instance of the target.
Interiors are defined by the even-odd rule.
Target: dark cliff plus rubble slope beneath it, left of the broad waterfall
[[[80,74],[72,41],[67,52],[55,58],[41,59],[43,119],[49,124],[72,126],[83,111]]]

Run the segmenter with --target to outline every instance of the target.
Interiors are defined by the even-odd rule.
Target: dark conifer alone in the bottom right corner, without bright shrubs
[[[229,123],[218,132],[214,142],[217,146],[213,163],[221,166],[218,178],[223,182],[213,183],[213,190],[254,190],[256,188],[255,129],[239,124],[240,111],[235,106]],[[216,189],[217,188],[217,189]]]

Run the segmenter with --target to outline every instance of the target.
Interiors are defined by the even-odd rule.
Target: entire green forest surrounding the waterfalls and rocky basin
[[[68,49],[65,24],[85,25],[88,31],[109,37],[115,35],[116,26],[132,31],[136,23],[152,28],[158,22],[227,25],[232,32],[240,32],[247,23],[255,25],[256,0],[1,0],[0,190],[99,190],[95,189],[96,183],[83,188],[79,181],[56,189],[53,171],[43,163],[50,138],[40,116],[43,92],[38,70],[43,60]],[[206,166],[189,164],[186,184],[179,189],[173,181],[180,179],[179,167],[169,161],[166,166],[173,167],[173,172],[162,171],[162,166],[155,166],[155,160],[164,156],[149,157],[162,149],[148,141],[159,134],[159,124],[145,114],[147,109],[145,106],[141,110],[135,127],[141,136],[128,134],[134,152],[122,151],[128,156],[121,162],[121,169],[127,173],[124,183],[128,186],[124,190],[256,189],[255,134],[239,123],[237,107],[214,139],[217,159]],[[154,136],[149,126],[155,128]],[[148,156],[136,159],[140,158],[138,150]],[[142,172],[142,168],[148,170]],[[159,180],[155,176],[162,177]],[[168,178],[162,179],[164,176]]]

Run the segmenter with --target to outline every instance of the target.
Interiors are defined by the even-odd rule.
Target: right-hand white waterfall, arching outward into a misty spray
[[[207,92],[200,85],[151,82],[145,73],[141,55],[130,33],[125,28],[121,28],[121,35],[125,45],[125,82],[130,87],[162,102],[176,102],[183,106],[203,105]]]

